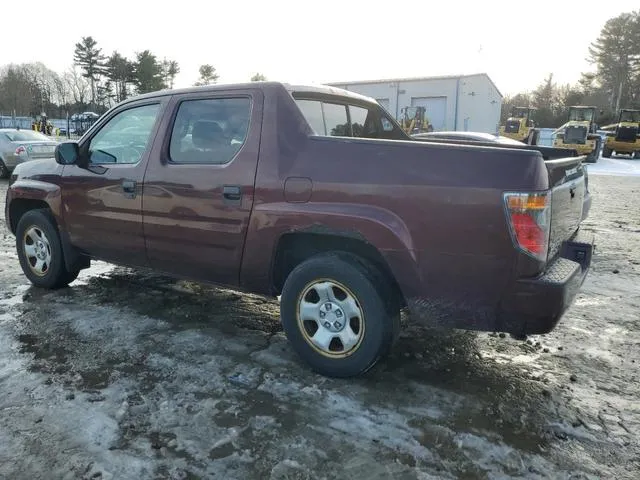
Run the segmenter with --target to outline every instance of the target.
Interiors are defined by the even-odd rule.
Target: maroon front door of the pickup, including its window
[[[64,220],[71,243],[91,256],[147,264],[142,232],[142,179],[164,99],[123,105],[109,114],[80,154],[86,168],[66,165]]]

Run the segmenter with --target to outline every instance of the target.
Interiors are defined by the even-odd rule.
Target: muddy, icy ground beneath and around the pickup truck
[[[30,288],[3,224],[0,478],[640,478],[640,177],[590,185],[593,269],[557,330],[407,327],[348,381],[261,298],[102,263]]]

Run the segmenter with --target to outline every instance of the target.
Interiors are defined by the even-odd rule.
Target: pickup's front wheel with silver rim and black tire
[[[30,210],[20,218],[16,250],[22,271],[36,287],[66,287],[80,273],[67,271],[60,235],[48,210]]]

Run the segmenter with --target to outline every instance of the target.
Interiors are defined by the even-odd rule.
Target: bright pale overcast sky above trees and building
[[[43,5],[43,7],[40,7]],[[98,7],[100,5],[101,7]],[[166,5],[166,6],[165,6]],[[179,62],[176,87],[210,63],[220,82],[325,83],[487,72],[503,94],[553,73],[576,81],[606,20],[638,0],[278,1],[2,0],[0,65],[41,61],[58,72],[82,36],[103,53],[151,50]]]

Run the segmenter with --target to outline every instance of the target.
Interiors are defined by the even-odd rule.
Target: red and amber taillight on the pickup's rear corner
[[[549,251],[551,194],[505,193],[504,201],[516,246],[539,260],[545,260]]]

